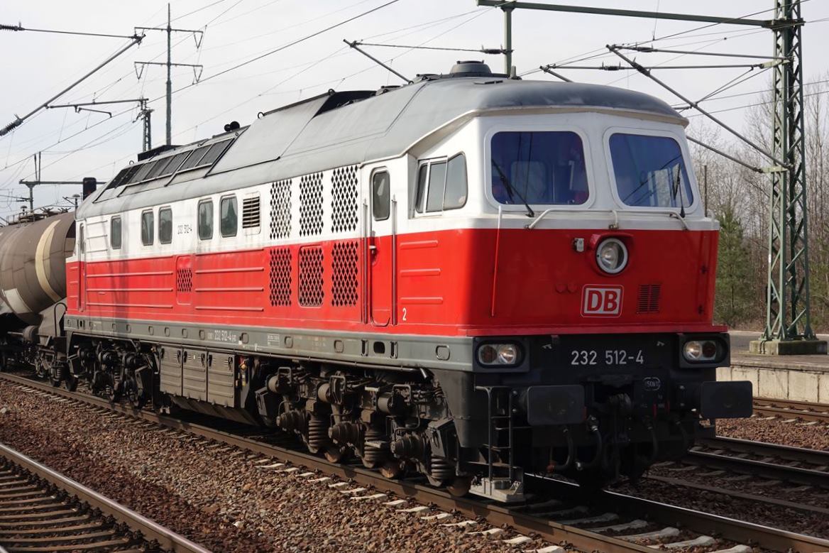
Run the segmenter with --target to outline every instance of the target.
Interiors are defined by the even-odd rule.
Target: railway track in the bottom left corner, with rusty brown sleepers
[[[0,551],[206,549],[0,444]]]

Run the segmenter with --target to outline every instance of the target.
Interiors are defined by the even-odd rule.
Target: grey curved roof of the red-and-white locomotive
[[[335,102],[341,98],[344,104]],[[177,183],[182,179],[173,177],[167,187],[158,183],[146,192],[120,196],[108,192],[106,200],[98,200],[98,192],[80,206],[78,216],[157,206],[399,156],[463,114],[521,107],[613,109],[684,121],[661,99],[584,83],[463,77],[421,80],[376,95],[330,93],[264,114],[240,131],[203,178]],[[171,150],[169,155],[201,143]]]

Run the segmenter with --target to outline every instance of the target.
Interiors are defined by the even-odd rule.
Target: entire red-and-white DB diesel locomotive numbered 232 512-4
[[[458,62],[143,154],[76,213],[53,381],[501,501],[636,478],[751,411],[685,125]]]

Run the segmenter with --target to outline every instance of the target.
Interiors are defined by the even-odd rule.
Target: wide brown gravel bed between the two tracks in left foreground
[[[213,551],[516,551],[381,502],[351,501],[295,473],[257,468],[254,455],[236,449],[5,382],[0,441]],[[479,522],[476,529],[488,527]],[[545,545],[535,539],[520,549]]]

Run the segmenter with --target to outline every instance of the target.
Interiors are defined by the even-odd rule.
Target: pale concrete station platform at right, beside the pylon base
[[[718,381],[751,381],[755,397],[829,405],[829,356],[755,355],[748,352],[748,342],[759,332],[730,334],[731,366],[717,369]]]

